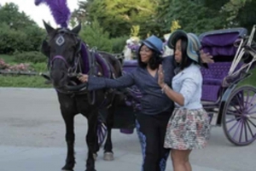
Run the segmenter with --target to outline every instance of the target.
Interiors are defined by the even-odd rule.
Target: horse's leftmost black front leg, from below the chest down
[[[75,157],[74,157],[74,140],[75,140],[75,134],[73,131],[73,120],[74,115],[71,113],[62,113],[62,117],[65,121],[66,125],[66,142],[67,142],[67,158],[66,158],[66,164],[62,168],[63,171],[73,171],[73,167],[75,165]]]

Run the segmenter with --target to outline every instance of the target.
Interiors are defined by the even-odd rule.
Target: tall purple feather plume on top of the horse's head
[[[67,27],[71,16],[70,9],[67,7],[67,0],[35,0],[37,6],[42,3],[49,6],[57,25]]]

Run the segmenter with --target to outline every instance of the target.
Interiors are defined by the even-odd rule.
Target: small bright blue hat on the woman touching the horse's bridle
[[[142,42],[148,48],[154,49],[156,52],[162,54],[163,42],[159,37],[152,35]]]

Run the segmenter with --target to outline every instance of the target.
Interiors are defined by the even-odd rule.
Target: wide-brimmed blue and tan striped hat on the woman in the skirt
[[[194,33],[187,33],[182,30],[177,30],[172,33],[167,42],[167,46],[169,48],[175,48],[175,44],[180,37],[188,38],[188,47],[187,54],[191,60],[195,62],[199,62],[199,53],[201,48],[201,43],[199,38]]]

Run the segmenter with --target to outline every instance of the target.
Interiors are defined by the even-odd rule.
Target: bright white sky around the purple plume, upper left
[[[34,0],[0,0],[0,3],[15,3],[19,6],[20,12],[24,11],[32,20],[38,23],[38,26],[44,27],[43,20],[49,22],[51,26],[56,27],[53,17],[50,15],[49,8],[45,4],[36,6]],[[78,0],[67,0],[68,8],[78,9]]]

